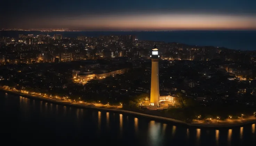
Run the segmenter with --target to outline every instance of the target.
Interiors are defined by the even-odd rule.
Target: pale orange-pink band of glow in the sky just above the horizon
[[[21,25],[79,30],[255,30],[256,16],[214,14],[125,14],[27,19]],[[46,28],[43,27],[43,28]]]

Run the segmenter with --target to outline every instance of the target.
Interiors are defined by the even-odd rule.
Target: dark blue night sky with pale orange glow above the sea
[[[256,29],[256,0],[1,1],[1,28]]]

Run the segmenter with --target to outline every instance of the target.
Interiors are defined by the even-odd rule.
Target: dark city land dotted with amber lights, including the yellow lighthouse
[[[234,101],[255,106],[254,51],[146,41],[135,35],[28,33],[1,41],[2,85],[13,82],[15,88],[61,93],[76,101],[126,101],[149,110],[195,105],[199,110]],[[12,73],[5,74],[8,66]]]

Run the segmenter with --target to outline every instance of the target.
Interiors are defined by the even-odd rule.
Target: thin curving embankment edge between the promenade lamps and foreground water
[[[244,126],[246,124],[254,124],[254,123],[256,123],[256,118],[254,118],[253,120],[245,121],[245,122],[232,123],[232,124],[219,124],[219,125],[218,124],[186,123],[186,122],[181,121],[181,120],[176,120],[176,119],[166,118],[166,117],[160,117],[160,116],[157,116],[157,115],[150,115],[150,114],[144,114],[144,113],[139,113],[139,112],[133,112],[133,111],[128,111],[128,110],[100,108],[100,107],[95,107],[95,106],[91,106],[91,105],[81,105],[81,104],[74,104],[74,103],[70,103],[70,102],[62,102],[62,101],[57,101],[57,100],[50,99],[50,98],[44,98],[44,97],[39,97],[39,96],[27,95],[27,94],[23,94],[23,93],[17,93],[17,92],[9,91],[9,90],[2,89],[2,88],[0,89],[0,91],[6,92],[6,93],[10,93],[10,94],[14,94],[14,95],[23,96],[25,98],[46,101],[46,102],[50,102],[50,103],[54,103],[54,104],[58,104],[58,105],[64,105],[64,106],[68,105],[68,106],[73,106],[73,107],[76,107],[76,108],[83,108],[83,109],[95,109],[95,110],[102,110],[102,111],[113,111],[113,112],[120,112],[120,113],[139,115],[139,116],[146,117],[146,118],[152,118],[152,119],[157,119],[157,120],[162,120],[162,121],[168,121],[168,122],[172,122],[172,123],[182,124],[182,125],[188,126],[188,127],[198,127],[198,128],[200,128],[200,127],[201,128],[230,128],[230,127],[239,127],[239,126]]]

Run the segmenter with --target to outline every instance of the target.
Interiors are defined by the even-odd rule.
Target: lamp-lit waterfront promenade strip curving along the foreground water
[[[40,96],[37,94],[27,94],[26,92],[20,92],[20,91],[15,91],[13,89],[8,89],[8,88],[0,88],[1,91],[6,92],[7,94],[16,94],[20,95],[26,98],[32,98],[32,99],[38,99],[46,102],[51,102],[59,105],[68,105],[68,106],[75,106],[77,108],[89,108],[89,109],[96,109],[96,110],[105,110],[105,111],[113,111],[113,112],[121,112],[121,113],[128,113],[128,114],[134,114],[134,115],[139,115],[143,117],[148,117],[152,119],[158,119],[158,120],[163,120],[163,121],[169,121],[173,123],[179,123],[179,124],[184,124],[186,126],[195,126],[195,127],[213,127],[213,128],[219,128],[219,127],[237,127],[237,126],[242,126],[245,124],[251,124],[251,123],[256,123],[256,117],[247,117],[244,119],[232,119],[232,120],[211,120],[209,122],[206,122],[207,120],[193,120],[192,123],[187,123],[185,121],[181,120],[176,120],[172,118],[166,118],[166,117],[160,117],[157,115],[151,115],[151,114],[144,114],[144,113],[139,113],[139,112],[134,112],[134,111],[128,111],[128,110],[122,110],[122,106],[110,106],[109,104],[104,105],[100,103],[86,103],[86,102],[70,102],[70,100],[60,100],[58,98],[53,99],[48,96]]]

